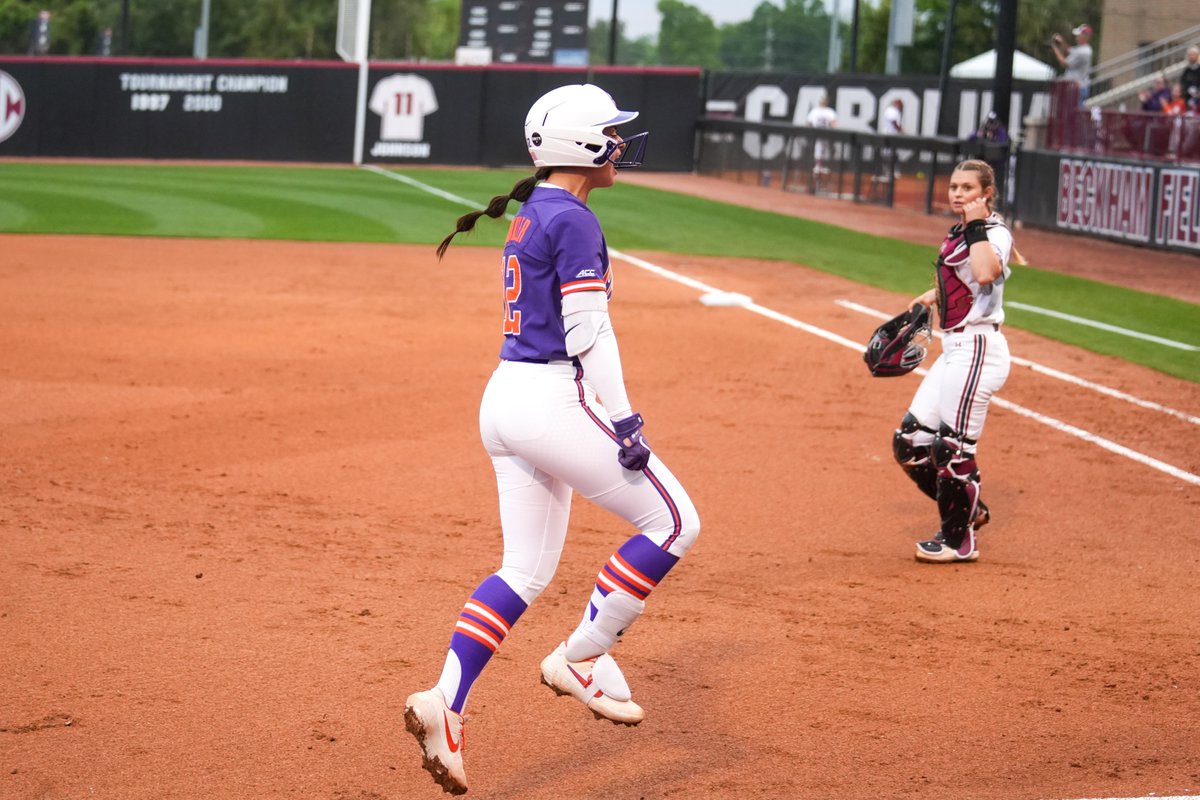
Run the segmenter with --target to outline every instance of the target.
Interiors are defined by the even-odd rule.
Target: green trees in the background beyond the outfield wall
[[[913,44],[900,50],[902,73],[940,71],[950,1],[916,0]],[[841,2],[844,14],[851,2]],[[1021,0],[1018,49],[1054,64],[1050,36],[1081,22],[1098,26],[1102,2]],[[658,0],[656,7],[661,16],[658,36],[626,37],[618,19],[614,53],[610,53],[608,20],[595,22],[589,31],[590,62],[808,74],[828,68],[833,19],[823,0],[761,0],[749,19],[725,25],[716,25],[686,0]],[[995,46],[997,7],[998,0],[958,0],[952,62]],[[50,54],[95,54],[110,29],[114,55],[187,58],[193,53],[202,0],[0,0],[0,52],[25,53],[32,22],[43,8],[52,13]],[[884,71],[890,13],[892,0],[862,0],[858,72]],[[373,0],[371,58],[450,61],[458,43],[460,16],[461,0]],[[839,25],[839,70],[848,71],[852,26],[845,20]],[[336,59],[336,31],[335,0],[210,0],[208,54]]]

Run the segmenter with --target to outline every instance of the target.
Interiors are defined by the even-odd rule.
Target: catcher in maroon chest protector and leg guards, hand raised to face
[[[950,175],[950,207],[961,219],[937,258],[937,285],[908,303],[937,305],[942,355],[912,398],[893,451],[922,492],[937,500],[941,529],[917,542],[917,560],[974,561],[976,529],[990,519],[979,500],[976,444],[992,395],[1008,379],[1002,299],[1009,260],[1024,264],[1013,234],[991,210],[996,178],[983,161],[964,161]]]

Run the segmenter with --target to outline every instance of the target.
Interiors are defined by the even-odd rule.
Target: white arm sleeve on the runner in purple
[[[566,353],[583,365],[583,374],[600,395],[608,419],[622,420],[632,414],[605,293],[578,291],[563,297],[563,326]]]

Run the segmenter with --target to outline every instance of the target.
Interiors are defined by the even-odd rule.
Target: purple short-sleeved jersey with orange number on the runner
[[[608,247],[600,222],[582,200],[539,186],[521,206],[504,243],[505,361],[566,361],[563,297],[574,291],[612,295]]]

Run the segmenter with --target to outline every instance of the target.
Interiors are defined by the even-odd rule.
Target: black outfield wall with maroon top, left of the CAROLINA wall
[[[0,58],[0,157],[347,163],[356,66],[193,59]],[[372,62],[362,161],[529,166],[539,95],[595,83],[653,131],[656,169],[690,170],[697,68]]]

